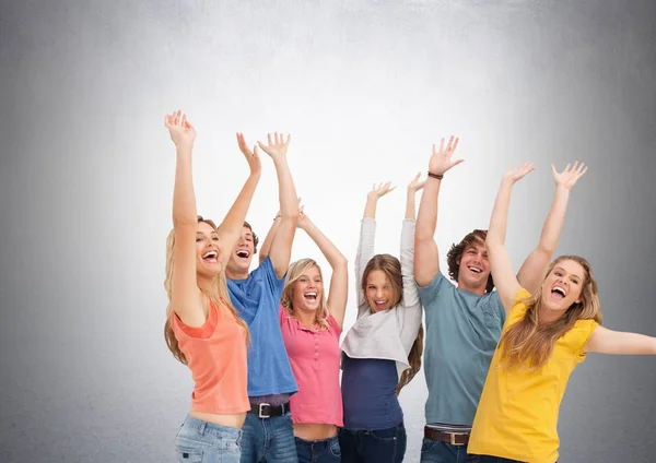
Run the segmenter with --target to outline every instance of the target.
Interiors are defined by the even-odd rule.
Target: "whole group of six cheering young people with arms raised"
[[[454,159],[458,139],[433,145],[426,179],[418,175],[408,186],[400,259],[374,251],[377,202],[394,190],[375,185],[354,261],[358,319],[340,344],[348,261],[300,207],[290,136],[270,134],[251,149],[237,133],[250,175],[216,225],[197,214],[195,128],[179,110],[165,126],[177,158],[165,339],[195,382],[176,436],[179,462],[402,462],[398,395],[423,354],[421,462],[553,463],[560,403],[586,354],[656,354],[655,337],[601,327],[585,259],[552,261],[583,164],[552,167],[551,209],[518,272],[505,249],[506,223],[512,188],[532,164],[503,174],[489,229],[452,246],[446,272],[434,235],[441,185],[461,162]],[[246,222],[261,173],[258,149],[273,162],[280,201],[259,249]],[[290,264],[297,229],[328,261],[327,286],[315,260]]]

